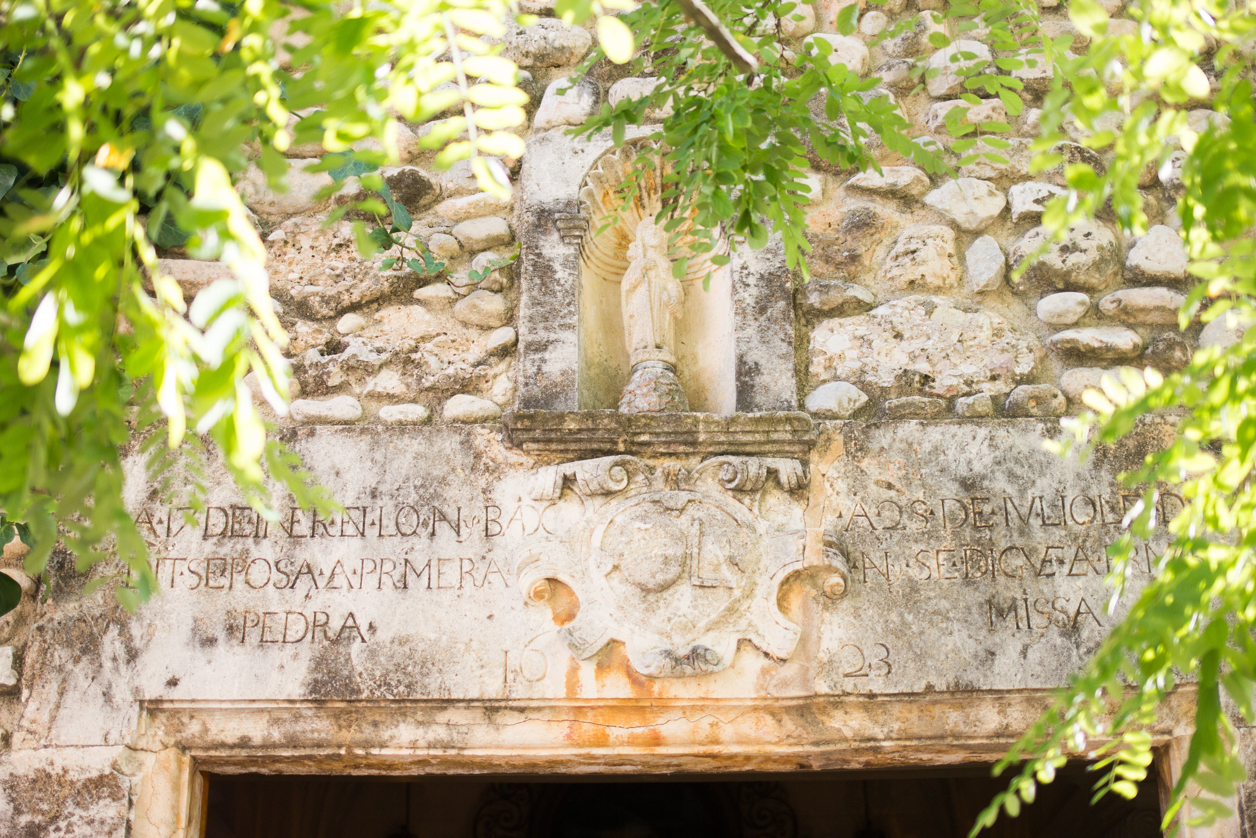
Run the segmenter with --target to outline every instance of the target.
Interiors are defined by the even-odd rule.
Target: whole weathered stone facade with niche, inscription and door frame
[[[922,141],[946,134],[958,79],[913,93],[906,70],[950,67],[928,41],[934,4],[892,1],[850,36],[840,5],[818,0],[791,36],[883,78]],[[693,412],[625,416],[597,395],[629,374],[622,268],[595,269],[582,197],[614,150],[564,131],[653,79],[598,67],[560,95],[590,45],[549,16],[507,35],[531,95],[529,151],[504,161],[512,200],[466,165],[437,171],[416,143],[431,126],[401,126],[383,175],[438,276],[381,270],[396,253],[362,259],[348,222],[324,229],[359,187],[317,201],[318,147],[286,152],[286,193],[256,167],[240,180],[291,338],[295,401],[270,418],[340,509],[281,499],[265,520],[216,469],[196,509],[182,484],[147,484],[134,441],[152,603],[83,596],[60,559],[38,589],[5,547],[26,594],[0,618],[0,833],[193,835],[202,770],[990,761],[1120,618],[1105,547],[1135,499],[1118,475],[1172,417],[1086,462],[1042,442],[1105,372],[1168,372],[1236,337],[1176,327],[1191,280],[1173,172],[1142,183],[1145,236],[1079,225],[1012,285],[1063,183],[1029,173],[1035,108],[973,108],[1011,122],[1014,148],[956,181],[885,148],[882,173],[816,161],[813,279],[770,244],[710,291],[685,283],[674,354]],[[162,269],[187,299],[225,275],[178,249]],[[1181,503],[1166,494],[1159,520]],[[1139,579],[1166,539],[1140,545]],[[1157,741],[1188,731],[1183,696]]]

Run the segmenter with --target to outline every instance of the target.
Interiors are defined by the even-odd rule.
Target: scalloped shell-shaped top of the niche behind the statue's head
[[[641,166],[637,161],[642,155],[647,156],[652,165]],[[627,190],[623,186],[634,166],[641,171],[636,180],[638,188],[632,195],[631,202],[624,206]],[[644,219],[653,219],[663,209],[662,178],[668,171],[671,170],[657,143],[651,141],[610,147],[594,161],[580,185],[580,212],[589,224],[589,235],[580,242],[580,265],[584,271],[610,283],[623,279],[628,268],[628,245],[637,237],[637,225]],[[688,259],[682,281],[707,276],[716,269],[711,264],[711,256],[728,253],[723,236],[717,239],[710,253],[703,254],[690,250],[690,245],[695,241],[697,241],[695,236],[683,234],[682,230],[682,235],[672,246],[673,261]]]

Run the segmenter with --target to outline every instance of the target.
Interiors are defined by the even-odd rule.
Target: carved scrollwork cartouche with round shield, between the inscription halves
[[[652,471],[631,456],[544,467],[533,498],[558,500],[570,481],[584,515],[570,538],[519,552],[519,587],[531,602],[548,596],[549,579],[571,587],[580,608],[560,633],[580,660],[622,641],[642,675],[703,675],[732,663],[742,638],[788,658],[799,627],[776,594],[803,569],[805,534],[755,514],[769,472],[789,492],[808,481],[800,461],[782,457],[715,457],[693,471]],[[842,596],[845,563],[830,552],[825,562],[825,593]]]

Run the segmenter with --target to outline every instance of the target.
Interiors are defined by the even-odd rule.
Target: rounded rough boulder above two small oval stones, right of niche
[[[1034,227],[1011,246],[1009,264],[1017,268],[1048,239],[1046,227]],[[1069,229],[1063,241],[1048,246],[1046,253],[1022,274],[1016,288],[1098,290],[1112,283],[1119,270],[1117,237],[1112,230],[1102,224],[1081,221]]]

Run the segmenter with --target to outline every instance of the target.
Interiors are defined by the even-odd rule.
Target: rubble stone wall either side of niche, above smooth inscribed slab
[[[904,72],[917,59],[945,63],[946,50],[933,50],[927,39],[941,24],[932,13],[899,1],[867,11],[858,34],[842,36],[833,34],[839,5],[821,0],[815,23],[793,26],[799,48],[808,38],[829,39],[865,75],[884,79],[877,92],[896,98],[919,142],[947,146],[945,114],[962,104],[957,78],[943,74],[912,93],[917,82]],[[811,8],[804,10],[810,14]],[[1053,33],[1071,34],[1084,45],[1063,6],[1042,14]],[[917,24],[868,49],[879,31],[904,19]],[[1113,25],[1133,24],[1118,18]],[[623,70],[603,63],[559,95],[592,38],[551,18],[512,29],[506,43],[533,95],[531,124],[521,129],[533,142],[579,124],[603,101],[649,85],[647,78],[618,78]],[[968,48],[988,52],[980,43]],[[1201,342],[1230,339],[1223,324],[1203,334],[1199,327],[1177,329],[1176,312],[1191,280],[1174,232],[1178,181],[1172,166],[1147,172],[1140,182],[1156,224],[1145,236],[1127,241],[1103,219],[1080,225],[1021,281],[1009,283],[1011,269],[1042,241],[1044,200],[1064,183],[1059,168],[1029,172],[1027,144],[1037,129],[1042,88],[1031,70],[1015,73],[1027,82],[1022,114],[1011,117],[1002,102],[986,99],[967,117],[1014,126],[1012,147],[1002,152],[1006,165],[978,161],[951,181],[906,165],[879,143],[873,151],[882,173],[815,161],[808,215],[813,278],[805,285],[795,280],[801,325],[795,339],[805,358],[798,384],[808,411],[826,418],[1058,416],[1076,410],[1083,389],[1096,384],[1103,371],[1150,364],[1167,372]],[[1208,113],[1192,112],[1192,119]],[[362,260],[347,220],[323,229],[333,206],[359,187],[350,180],[340,195],[315,201],[317,191],[330,183],[325,173],[304,171],[319,147],[286,152],[291,171],[284,195],[266,188],[257,168],[241,180],[266,237],[271,291],[291,337],[300,401],[285,421],[484,422],[516,405],[517,265],[526,259],[480,283],[468,273],[519,245],[526,255],[544,242],[517,241],[521,230],[535,225],[517,215],[528,204],[517,195],[521,187],[516,200],[504,202],[480,193],[465,162],[450,171],[433,168],[431,152],[416,141],[430,127],[401,126],[402,165],[383,175],[416,219],[414,237],[446,261],[437,278],[416,274],[404,261],[379,270],[396,251]],[[1070,131],[1081,138],[1076,126]],[[1104,165],[1076,143],[1058,151],[1068,160]],[[519,173],[521,161],[505,162]],[[544,180],[533,178],[533,188],[544,191]],[[182,260],[176,251],[166,254],[163,266],[187,297],[220,275],[216,265]],[[559,335],[536,337],[549,342]]]

